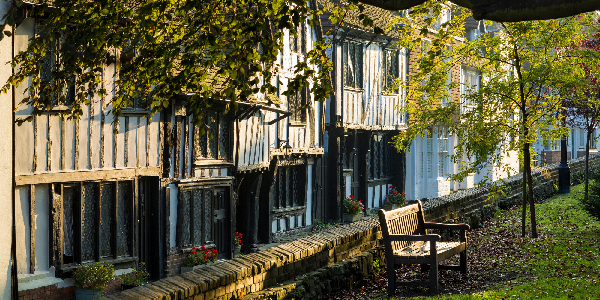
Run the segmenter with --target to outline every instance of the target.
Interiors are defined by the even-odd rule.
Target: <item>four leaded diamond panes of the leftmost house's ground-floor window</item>
[[[62,205],[62,266],[133,256],[133,181],[63,184]]]

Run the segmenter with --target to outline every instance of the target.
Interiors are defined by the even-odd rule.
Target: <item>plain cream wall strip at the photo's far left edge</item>
[[[0,1],[0,16],[4,16],[8,9],[11,7],[11,1]],[[6,26],[2,30],[10,30],[11,28]],[[7,62],[11,59],[11,38],[4,37],[0,41],[0,61]],[[8,76],[11,74],[10,65],[0,64],[0,82],[4,83],[7,81]],[[11,251],[11,224],[12,218],[10,217],[10,211],[12,209],[12,197],[13,187],[9,182],[13,182],[12,169],[13,169],[13,140],[10,138],[10,134],[13,133],[13,112],[11,108],[11,94],[0,95],[0,131],[5,134],[5,139],[0,139],[0,180],[4,182],[0,185],[0,208],[4,211],[4,215],[0,218],[0,298],[10,299],[11,290],[11,262],[10,262],[10,251]],[[18,266],[18,263],[17,263]],[[1,271],[4,270],[4,271]]]

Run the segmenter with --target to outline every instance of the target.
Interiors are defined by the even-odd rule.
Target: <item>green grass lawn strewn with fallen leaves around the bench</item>
[[[583,184],[536,205],[537,239],[521,238],[521,208],[497,214],[469,232],[468,275],[440,271],[440,295],[417,287],[397,289],[391,299],[600,299],[600,224],[574,199],[581,191]],[[458,263],[449,260],[444,264]],[[428,273],[401,266],[397,277],[428,280]],[[384,283],[380,278],[351,297],[332,299],[388,299]]]

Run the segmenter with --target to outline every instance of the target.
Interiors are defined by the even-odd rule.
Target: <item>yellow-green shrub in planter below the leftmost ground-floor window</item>
[[[73,283],[77,289],[104,289],[115,278],[113,265],[104,265],[99,262],[77,265],[73,271]]]

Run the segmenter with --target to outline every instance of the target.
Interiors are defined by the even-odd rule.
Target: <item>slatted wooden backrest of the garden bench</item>
[[[424,235],[425,217],[421,201],[391,211],[379,209],[379,223],[386,251],[394,253],[412,242],[389,242],[389,235]],[[388,249],[388,247],[391,247]]]

